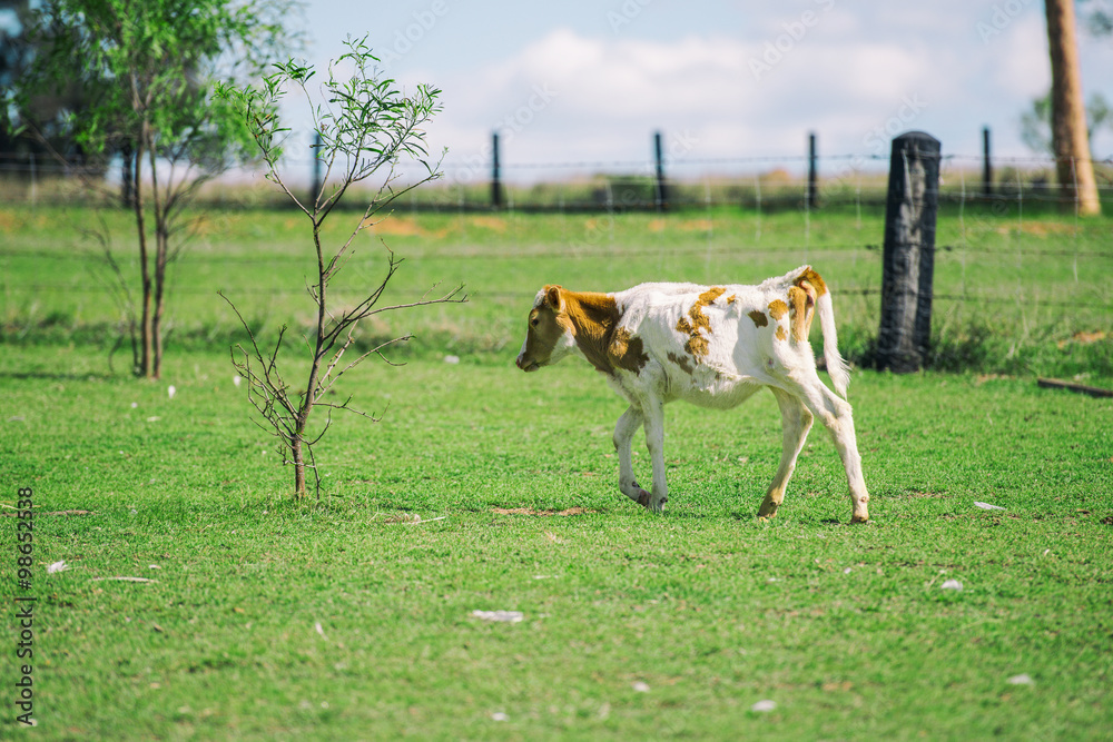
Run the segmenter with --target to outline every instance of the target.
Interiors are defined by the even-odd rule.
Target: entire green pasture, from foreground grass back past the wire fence
[[[587,364],[526,376],[513,358],[544,283],[752,283],[805,261],[844,354],[864,356],[879,215],[400,211],[378,229],[407,259],[388,298],[443,280],[471,301],[366,328],[417,337],[404,367],[345,378],[383,421],[336,418],[322,499],[294,503],[233,383],[239,336],[215,291],[264,336],[306,321],[305,225],[205,215],[147,383],[126,347],[108,364],[120,315],[91,212],[3,210],[0,502],[35,498],[29,592],[17,518],[0,518],[3,729],[19,726],[11,606],[32,594],[42,739],[1107,736],[1113,406],[1034,377],[1113,385],[1113,288],[1094,279],[1110,221],[962,216],[940,221],[936,289],[954,298],[936,335],[940,365],[966,370],[854,374],[873,521],[851,526],[821,429],[778,516],[756,520],[780,453],[769,394],[667,408],[670,497],[651,515],[618,492],[622,402]],[[381,250],[361,246],[353,286]],[[640,435],[634,449],[644,476]]]

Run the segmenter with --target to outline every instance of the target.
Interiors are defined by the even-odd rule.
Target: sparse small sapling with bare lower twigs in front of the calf
[[[441,91],[422,85],[413,95],[406,96],[394,80],[380,77],[375,67],[378,59],[372,55],[365,39],[348,40],[346,46],[347,52],[329,65],[328,79],[319,85],[319,95],[326,101],[324,105],[314,105],[316,96],[308,89],[314,70],[293,60],[276,65],[277,71],[265,77],[260,88],[223,88],[223,95],[239,107],[250,128],[267,165],[267,179],[276,184],[309,221],[315,269],[306,280],[306,290],[313,299],[315,323],[303,338],[309,350],[306,378],[290,384],[284,375],[289,366],[280,355],[286,326],[278,332],[274,348],[264,350],[235,304],[225,297],[250,338],[250,349],[243,346],[233,348],[233,364],[248,382],[248,399],[278,441],[283,463],[294,465],[295,497],[306,494],[308,469],[313,472],[319,498],[321,473],[314,446],[328,429],[334,409],[376,419],[349,407],[351,397],[341,403],[332,402],[336,382],[372,355],[386,360],[383,356],[386,346],[411,338],[405,335],[377,345],[373,343],[373,347],[358,350],[359,355],[354,359],[345,358],[345,354],[356,345],[359,323],[384,311],[466,300],[466,297],[460,296],[463,286],[459,286],[432,298],[433,288],[418,299],[380,306],[387,284],[402,264],[390,250],[385,275],[370,294],[361,287],[356,295],[361,298],[347,297],[346,301],[338,300],[334,295],[334,279],[355,253],[356,238],[376,222],[375,216],[398,196],[441,176],[440,161],[429,160],[422,128],[441,110],[437,102]],[[337,78],[337,69],[351,69],[351,77],[346,80]],[[278,103],[289,88],[299,89],[311,102],[313,128],[319,142],[316,157],[325,169],[324,177],[307,200],[294,194],[278,167],[282,142],[289,132],[279,120]],[[416,160],[422,176],[396,189],[402,157]],[[368,178],[380,178],[380,185],[357,216],[355,227],[339,245],[326,246],[322,234],[325,221],[352,186]],[[301,367],[296,362],[294,365]],[[311,415],[316,407],[325,407],[329,416],[319,429],[311,432]]]

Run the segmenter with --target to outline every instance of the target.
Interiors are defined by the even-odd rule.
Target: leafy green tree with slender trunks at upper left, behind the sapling
[[[128,298],[125,308],[137,375],[161,370],[166,271],[180,253],[171,237],[184,208],[203,184],[254,155],[243,118],[214,86],[256,76],[286,51],[290,8],[287,0],[48,0],[32,10],[35,56],[16,83],[21,125],[49,142],[37,128],[36,97],[78,89],[82,109],[65,110],[55,126],[100,172],[116,154],[129,164],[125,198],[141,291],[139,306]],[[107,247],[106,255],[130,297]]]

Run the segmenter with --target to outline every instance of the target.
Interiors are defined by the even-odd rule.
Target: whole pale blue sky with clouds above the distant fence
[[[391,77],[443,91],[427,138],[457,181],[487,177],[496,130],[519,181],[631,170],[654,131],[681,177],[802,170],[809,132],[868,168],[923,130],[973,168],[986,126],[996,157],[1033,155],[1020,117],[1051,86],[1038,0],[308,0],[302,22],[317,69],[367,36]],[[1078,39],[1086,97],[1113,101],[1113,38]],[[1093,148],[1113,156],[1113,129]]]

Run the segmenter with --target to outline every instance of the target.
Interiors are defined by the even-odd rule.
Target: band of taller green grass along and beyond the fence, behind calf
[[[1033,205],[1026,209],[1017,212],[1007,201],[945,204],[932,363],[944,370],[1082,376],[1109,385],[1103,379],[1113,377],[1113,284],[1101,277],[1113,270],[1113,220],[1076,221]],[[88,235],[99,218],[88,208],[0,210],[4,340],[77,342],[107,357],[124,315]],[[138,266],[128,215],[104,218],[134,291]],[[327,240],[338,244],[356,218],[335,214]],[[482,355],[516,344],[524,313],[546,283],[581,290],[646,280],[757,283],[804,263],[833,287],[845,355],[868,364],[877,335],[884,212],[876,206],[831,204],[812,214],[717,207],[664,217],[401,208],[380,233],[356,241],[335,286],[342,303],[381,280],[381,239],[406,259],[386,300],[412,300],[437,281],[465,284],[472,299],[367,323],[368,343],[413,330],[410,353]],[[307,326],[314,314],[304,285],[313,269],[307,222],[298,214],[203,212],[170,269],[167,352],[224,346],[242,336],[218,290],[256,328],[273,334],[283,323]]]

